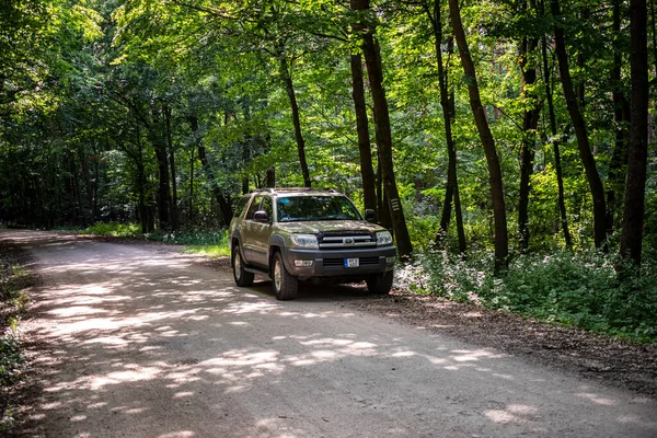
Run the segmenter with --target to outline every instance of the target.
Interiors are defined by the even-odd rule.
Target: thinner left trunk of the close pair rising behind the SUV
[[[356,25],[354,26],[356,30]],[[354,108],[356,113],[356,131],[358,132],[358,152],[360,157],[360,175],[362,177],[362,204],[366,209],[377,210],[377,192],[374,187],[374,169],[372,166],[372,148],[369,139],[369,123],[365,104],[365,85],[362,81],[362,59],[360,54],[351,55],[351,81]]]

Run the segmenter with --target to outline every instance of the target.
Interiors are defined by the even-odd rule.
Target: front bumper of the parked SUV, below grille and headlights
[[[394,246],[364,250],[299,250],[285,249],[284,263],[288,273],[301,277],[359,277],[381,274],[394,266]],[[345,267],[345,258],[358,258],[358,267]],[[297,266],[296,261],[312,261],[312,266]]]

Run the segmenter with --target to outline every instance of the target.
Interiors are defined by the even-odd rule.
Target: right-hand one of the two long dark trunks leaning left
[[[560,18],[561,8],[558,0],[550,1],[552,15]],[[570,78],[570,69],[568,67],[568,54],[566,51],[566,42],[564,30],[562,26],[554,26],[554,44],[556,57],[558,59],[558,70],[561,73],[564,95],[566,97],[566,106],[575,134],[577,136],[577,147],[579,149],[579,158],[586,172],[586,178],[589,183],[591,197],[593,200],[593,242],[597,249],[607,247],[607,203],[604,200],[604,187],[600,180],[600,174],[596,168],[596,160],[591,153],[586,123],[579,111],[577,95],[573,89],[573,79]]]

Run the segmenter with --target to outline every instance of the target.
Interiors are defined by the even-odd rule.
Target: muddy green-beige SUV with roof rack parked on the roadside
[[[366,220],[367,219],[367,220]],[[268,188],[244,195],[230,223],[238,286],[255,274],[272,279],[279,300],[297,295],[299,280],[367,283],[373,293],[392,288],[392,235],[364,219],[343,194],[316,188]]]

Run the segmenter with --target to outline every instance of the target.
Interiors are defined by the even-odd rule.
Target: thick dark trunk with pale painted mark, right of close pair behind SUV
[[[369,10],[369,0],[351,0],[351,9],[357,11]],[[381,177],[383,180],[383,192],[392,216],[392,228],[396,240],[400,257],[408,257],[413,252],[411,235],[406,228],[406,219],[400,199],[394,166],[392,160],[392,132],[390,129],[390,114],[388,101],[383,90],[383,71],[379,47],[374,43],[373,30],[368,28],[362,36],[362,53],[372,93],[374,118],[377,122],[377,139],[379,145],[379,158],[381,163]]]

